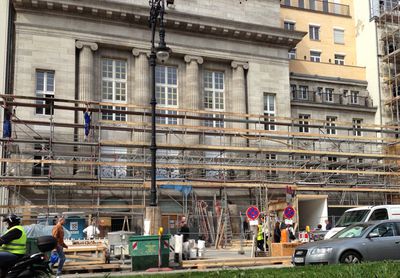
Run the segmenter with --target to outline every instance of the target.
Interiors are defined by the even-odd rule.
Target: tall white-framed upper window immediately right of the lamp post
[[[178,107],[178,69],[170,66],[156,67],[156,99],[159,107]],[[176,111],[157,111],[160,114],[177,115]],[[178,124],[177,118],[157,117],[159,124]]]

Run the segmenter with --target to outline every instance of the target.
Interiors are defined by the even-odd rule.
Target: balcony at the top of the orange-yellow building
[[[325,14],[350,16],[349,5],[320,0],[281,0],[281,7],[298,8]]]

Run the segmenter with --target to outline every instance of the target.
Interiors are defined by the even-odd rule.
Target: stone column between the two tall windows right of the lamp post
[[[186,88],[182,95],[182,105],[184,109],[200,110],[201,109],[201,92],[199,81],[199,65],[203,64],[203,58],[198,56],[185,56],[186,62]],[[196,112],[187,113],[188,116],[198,116]],[[184,119],[184,125],[197,126],[200,121],[193,119]],[[199,135],[186,135],[185,143],[189,145],[199,144]]]

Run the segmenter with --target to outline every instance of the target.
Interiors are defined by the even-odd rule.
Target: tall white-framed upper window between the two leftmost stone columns
[[[126,96],[126,61],[104,58],[101,68],[102,101],[124,104]],[[102,106],[103,109],[126,111],[126,107]],[[102,112],[103,120],[126,121],[125,113]]]

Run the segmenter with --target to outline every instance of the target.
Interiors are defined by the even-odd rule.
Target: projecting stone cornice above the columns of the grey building
[[[149,8],[142,5],[111,3],[91,0],[12,0],[16,11],[39,10],[73,14],[96,20],[107,19],[115,22],[141,25],[148,28]],[[249,24],[227,19],[167,10],[165,27],[177,32],[197,33],[199,36],[212,35],[278,45],[293,48],[306,34],[282,28]]]

